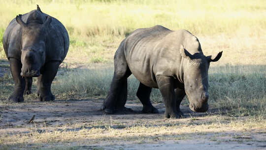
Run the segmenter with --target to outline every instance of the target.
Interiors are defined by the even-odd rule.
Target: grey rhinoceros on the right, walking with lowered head
[[[199,40],[186,30],[171,31],[162,26],[137,29],[124,39],[114,56],[114,76],[101,107],[106,113],[125,110],[127,78],[139,81],[137,97],[142,112],[158,113],[150,102],[151,88],[159,88],[164,98],[165,117],[183,116],[180,103],[185,95],[194,112],[208,110],[208,69],[217,56],[204,56]]]

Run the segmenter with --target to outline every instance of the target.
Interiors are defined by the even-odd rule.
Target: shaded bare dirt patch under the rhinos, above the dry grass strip
[[[28,122],[33,115],[35,115],[34,123],[45,122],[46,125],[55,127],[69,125],[69,123],[76,124],[103,118],[109,119],[110,117],[115,120],[129,121],[128,124],[131,124],[132,119],[164,118],[163,113],[165,112],[163,103],[154,105],[159,110],[159,114],[142,113],[141,104],[129,101],[126,107],[133,109],[133,112],[118,112],[110,115],[100,111],[102,99],[56,100],[53,102],[39,102],[38,100],[25,101],[21,104],[6,105],[4,108],[0,106],[2,110],[0,112],[0,116],[2,117],[0,120],[0,133],[9,131],[14,133],[16,130],[19,132],[29,131],[28,128],[32,124]],[[185,117],[190,117],[190,114],[193,116],[206,115],[206,113],[194,113],[188,107],[181,107],[181,109],[185,113]]]

